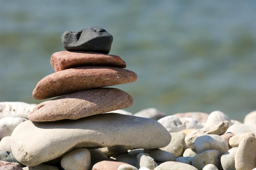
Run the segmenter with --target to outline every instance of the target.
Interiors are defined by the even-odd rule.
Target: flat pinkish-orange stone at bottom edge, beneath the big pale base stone
[[[96,163],[92,170],[118,170],[120,165],[129,165],[123,162],[115,162],[115,161],[101,161]]]

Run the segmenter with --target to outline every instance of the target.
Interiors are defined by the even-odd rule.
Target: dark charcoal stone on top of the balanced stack
[[[92,27],[76,32],[66,31],[62,35],[61,41],[67,51],[91,51],[108,54],[113,36],[103,28]]]

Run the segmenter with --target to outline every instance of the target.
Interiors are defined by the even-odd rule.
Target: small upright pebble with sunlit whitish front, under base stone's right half
[[[136,168],[142,168],[146,167],[149,168],[150,170],[155,169],[155,162],[153,158],[149,156],[149,154],[146,153],[140,153],[137,155],[137,163],[136,163]]]

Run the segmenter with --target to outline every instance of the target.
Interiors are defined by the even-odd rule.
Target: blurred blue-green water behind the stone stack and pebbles
[[[167,115],[220,110],[242,121],[256,110],[256,1],[0,0],[0,101],[34,100],[54,73],[61,35],[102,27],[109,54],[137,73],[132,113],[155,107]]]

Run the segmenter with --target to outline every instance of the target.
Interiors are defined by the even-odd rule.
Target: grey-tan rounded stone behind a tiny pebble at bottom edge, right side
[[[192,160],[192,166],[198,170],[202,170],[208,164],[213,164],[216,167],[220,166],[220,155],[217,150],[206,150],[196,155]]]

